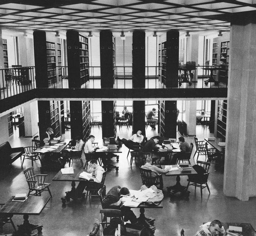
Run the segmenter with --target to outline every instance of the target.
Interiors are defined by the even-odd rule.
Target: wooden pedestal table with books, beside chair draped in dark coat
[[[178,165],[171,165],[172,168],[178,167]],[[165,166],[161,166],[162,169],[165,169]],[[197,171],[195,171],[193,168],[191,172],[182,172],[181,170],[172,170],[165,173],[166,176],[176,176],[176,184],[174,186],[167,187],[167,191],[169,194],[173,195],[177,192],[180,192],[182,195],[185,195],[186,197],[189,197],[190,192],[186,191],[186,187],[182,186],[180,184],[180,176],[181,175],[195,175],[197,174]]]

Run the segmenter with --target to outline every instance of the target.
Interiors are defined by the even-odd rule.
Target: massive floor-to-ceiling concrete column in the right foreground
[[[228,75],[228,115],[223,192],[248,201],[256,196],[256,23],[232,20]],[[245,22],[247,21],[247,22]],[[241,24],[242,23],[242,24]]]

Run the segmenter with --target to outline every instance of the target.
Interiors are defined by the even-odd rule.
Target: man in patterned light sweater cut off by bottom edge
[[[223,236],[225,233],[226,231],[221,224],[221,221],[215,219],[211,222],[201,225],[195,236]]]

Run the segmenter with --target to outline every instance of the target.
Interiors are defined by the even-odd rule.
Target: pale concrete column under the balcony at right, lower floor
[[[187,123],[187,134],[196,135],[197,127],[197,101],[186,101],[185,121]]]

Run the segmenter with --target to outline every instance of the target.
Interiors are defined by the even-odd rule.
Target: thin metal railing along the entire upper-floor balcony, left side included
[[[81,88],[100,89],[100,66],[89,66],[88,71],[89,76],[81,79]],[[115,66],[114,71],[114,89],[133,88],[132,66]],[[195,66],[193,70],[180,66],[178,82],[169,81],[169,84],[176,89],[226,88],[227,74],[224,66]],[[35,66],[1,69],[0,76],[0,100],[36,88]],[[48,76],[48,88],[69,88],[68,77],[67,66],[56,66],[55,76],[51,79]],[[146,89],[165,89],[166,83],[165,67],[145,67]]]

